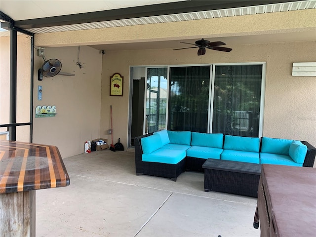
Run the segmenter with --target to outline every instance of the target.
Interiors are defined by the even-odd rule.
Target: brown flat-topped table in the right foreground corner
[[[262,237],[316,235],[316,168],[263,164],[254,227]]]

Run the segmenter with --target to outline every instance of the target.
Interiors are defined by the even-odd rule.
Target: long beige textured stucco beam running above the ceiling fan
[[[72,46],[160,40],[185,40],[228,36],[267,35],[316,30],[316,9],[276,12],[112,27],[85,31],[39,34],[36,45]],[[268,37],[269,36],[265,36]]]

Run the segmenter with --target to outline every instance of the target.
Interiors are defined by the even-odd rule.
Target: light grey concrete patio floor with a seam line
[[[133,149],[64,158],[70,186],[36,192],[37,237],[259,237],[257,199],[204,192],[204,174],[176,182],[135,175]]]

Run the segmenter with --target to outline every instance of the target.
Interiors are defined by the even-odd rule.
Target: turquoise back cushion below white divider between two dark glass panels
[[[191,146],[223,148],[223,133],[192,132]]]

